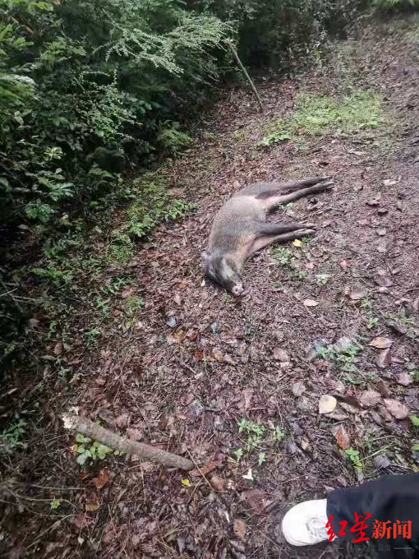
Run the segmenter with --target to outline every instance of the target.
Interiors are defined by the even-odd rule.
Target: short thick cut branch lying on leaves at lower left
[[[113,450],[118,450],[128,455],[139,456],[145,460],[152,460],[163,466],[178,467],[181,470],[192,470],[194,467],[193,462],[187,458],[182,458],[182,456],[178,456],[177,454],[150,447],[148,444],[143,444],[142,442],[120,437],[116,433],[112,433],[109,429],[101,427],[86,417],[64,414],[62,420],[64,421],[64,428],[90,437]]]

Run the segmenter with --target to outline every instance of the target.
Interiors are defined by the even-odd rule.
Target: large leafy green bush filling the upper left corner
[[[0,0],[1,221],[45,231],[128,161],[189,143],[167,121],[217,77],[228,27],[179,6]]]

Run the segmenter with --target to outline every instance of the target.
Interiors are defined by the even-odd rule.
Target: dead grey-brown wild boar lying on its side
[[[314,233],[314,224],[267,223],[274,206],[334,186],[329,177],[294,182],[257,182],[238,191],[217,213],[207,250],[201,254],[207,277],[235,296],[244,291],[242,267],[256,251]]]

